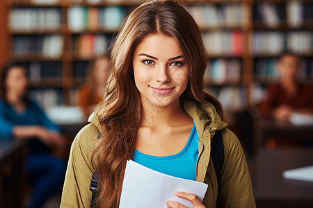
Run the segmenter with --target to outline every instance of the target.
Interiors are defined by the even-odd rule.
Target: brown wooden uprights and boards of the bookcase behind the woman
[[[6,44],[7,46],[0,46],[0,51],[2,57],[7,57],[6,60],[14,60],[16,62],[23,62],[23,63],[29,63],[32,62],[40,62],[42,64],[46,62],[61,62],[62,65],[62,74],[63,76],[61,78],[42,78],[39,83],[36,83],[31,85],[32,89],[36,88],[56,88],[61,89],[64,97],[63,101],[65,101],[65,105],[69,104],[66,103],[70,100],[70,98],[67,98],[65,96],[68,96],[71,94],[71,92],[79,87],[86,78],[83,77],[74,77],[75,72],[77,74],[80,74],[82,69],[78,69],[78,71],[75,71],[76,68],[74,67],[81,67],[79,64],[86,64],[86,62],[93,60],[95,58],[95,55],[90,55],[89,58],[81,58],[77,51],[77,42],[79,42],[79,39],[83,35],[104,35],[105,37],[108,37],[111,39],[111,35],[113,36],[117,31],[115,30],[106,30],[104,28],[101,28],[98,24],[97,30],[89,30],[84,29],[82,31],[71,31],[70,27],[68,26],[69,20],[68,18],[68,10],[72,8],[73,6],[79,6],[79,7],[86,7],[86,8],[95,8],[95,7],[106,7],[106,6],[122,6],[126,12],[131,11],[136,6],[140,5],[143,1],[115,1],[115,2],[106,2],[102,1],[102,3],[88,3],[87,0],[83,0],[82,3],[72,3],[71,0],[60,0],[58,3],[54,4],[35,4],[31,3],[30,0],[23,0],[21,3],[3,3],[3,0],[0,0],[0,6],[3,5],[4,12],[0,12],[0,18],[6,19],[8,22],[9,12],[10,10],[14,8],[31,8],[34,10],[37,10],[40,8],[47,9],[47,8],[56,8],[58,12],[61,15],[61,26],[60,28],[56,30],[33,30],[33,31],[10,31],[9,26],[4,26],[3,33],[6,33]],[[11,0],[5,0],[10,2]],[[257,80],[257,77],[255,76],[255,62],[258,59],[272,59],[272,58],[278,58],[280,54],[255,54],[252,51],[252,44],[253,44],[253,34],[254,32],[264,32],[264,33],[272,33],[272,32],[279,32],[279,33],[289,33],[289,32],[301,32],[301,31],[313,31],[313,20],[307,20],[304,21],[303,24],[297,28],[291,27],[287,24],[287,21],[282,21],[278,26],[275,28],[271,28],[266,26],[264,22],[262,21],[255,21],[253,20],[253,7],[256,6],[257,3],[279,3],[279,4],[285,4],[287,3],[287,0],[184,0],[182,3],[186,6],[202,6],[202,5],[210,5],[210,6],[216,6],[218,12],[220,12],[220,8],[223,8],[223,6],[234,6],[239,5],[243,9],[243,20],[242,23],[236,24],[234,26],[203,26],[200,28],[202,33],[215,33],[215,32],[225,32],[225,33],[232,33],[232,31],[240,31],[242,34],[242,41],[243,41],[243,49],[241,54],[233,55],[233,54],[214,54],[214,52],[209,51],[209,60],[238,60],[241,64],[241,70],[240,70],[240,81],[237,83],[230,83],[226,82],[223,84],[216,84],[214,81],[204,80],[205,87],[215,87],[215,88],[223,88],[225,86],[227,87],[238,87],[243,88],[245,91],[245,99],[244,103],[253,103],[250,101],[252,98],[251,87],[252,85],[257,83],[262,83],[262,85],[268,85],[264,80],[260,82],[260,80]],[[313,0],[302,0],[302,3],[312,3]],[[284,6],[283,6],[284,7]],[[2,11],[2,10],[1,10]],[[128,13],[127,13],[128,14]],[[127,15],[126,14],[126,15]],[[219,19],[218,19],[219,20]],[[207,23],[209,24],[209,23]],[[1,35],[1,32],[0,32]],[[22,56],[14,56],[13,51],[13,39],[15,37],[19,36],[26,36],[31,38],[36,38],[36,35],[38,36],[44,36],[44,35],[61,35],[63,37],[63,55],[61,55],[58,58],[45,58],[42,56],[42,54],[33,54],[33,55],[22,55]],[[1,36],[2,37],[2,36]],[[285,42],[286,40],[284,40]],[[6,51],[6,52],[5,52]],[[7,51],[10,51],[9,53]],[[313,52],[313,51],[312,51]],[[301,54],[298,53],[300,58],[313,58],[313,53],[306,53]],[[77,63],[78,62],[78,63]],[[58,63],[57,63],[58,64]],[[78,68],[79,68],[78,67]],[[76,74],[76,75],[77,75]],[[308,82],[310,83],[310,82]],[[313,83],[313,80],[312,80]],[[248,104],[249,105],[249,104]],[[247,107],[247,106],[245,106]],[[249,106],[248,106],[249,107]]]

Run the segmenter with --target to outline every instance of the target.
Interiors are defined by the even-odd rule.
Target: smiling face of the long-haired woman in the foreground
[[[147,35],[134,51],[133,67],[142,103],[148,99],[166,107],[177,101],[187,87],[188,67],[173,37]]]

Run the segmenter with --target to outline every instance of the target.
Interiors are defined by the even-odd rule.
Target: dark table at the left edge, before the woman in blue
[[[0,207],[22,207],[26,144],[0,140]]]

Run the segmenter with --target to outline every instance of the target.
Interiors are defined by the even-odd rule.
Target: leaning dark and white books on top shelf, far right
[[[303,26],[313,19],[313,2],[287,1],[286,3],[256,3],[253,6],[253,19],[262,21],[270,28],[286,21],[291,28]]]

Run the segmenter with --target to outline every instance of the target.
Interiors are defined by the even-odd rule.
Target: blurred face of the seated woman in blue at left
[[[27,78],[26,72],[20,67],[13,67],[8,71],[6,77],[6,91],[7,93],[14,93],[18,96],[23,96],[26,92]]]

